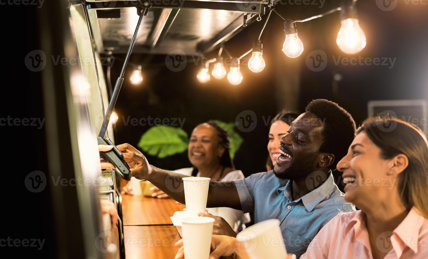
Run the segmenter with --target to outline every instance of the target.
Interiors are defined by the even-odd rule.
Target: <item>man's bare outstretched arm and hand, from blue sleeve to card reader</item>
[[[150,165],[146,157],[128,143],[117,147],[123,152],[125,161],[131,168],[131,176],[151,182],[172,199],[185,204],[183,178],[188,176]],[[242,209],[234,182],[210,181],[207,208],[214,207]]]

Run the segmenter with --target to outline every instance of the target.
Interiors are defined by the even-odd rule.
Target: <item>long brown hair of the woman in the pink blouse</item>
[[[398,190],[404,205],[413,206],[428,219],[428,143],[416,126],[392,117],[369,118],[357,129],[380,148],[383,159],[407,156],[409,165],[399,174]]]

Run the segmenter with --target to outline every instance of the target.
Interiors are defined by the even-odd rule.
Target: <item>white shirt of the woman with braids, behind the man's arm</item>
[[[175,173],[181,173],[186,176],[191,176],[193,171],[193,167],[188,168],[181,168],[178,170],[174,170],[172,172]],[[200,173],[196,176],[200,176]],[[241,170],[235,170],[230,173],[228,173],[226,176],[224,176],[222,179],[220,179],[220,182],[226,182],[226,181],[234,181],[239,179],[244,179],[244,174]],[[228,207],[218,207],[218,208],[207,208],[208,213],[213,214],[215,216],[223,217],[227,223],[235,230],[242,230],[244,229],[244,224],[247,222],[250,222],[250,214],[245,213]]]

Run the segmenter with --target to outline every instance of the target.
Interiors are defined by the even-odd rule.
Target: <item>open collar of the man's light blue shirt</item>
[[[333,179],[333,174],[331,170],[329,172],[329,176],[327,180],[318,188],[312,190],[308,194],[303,195],[300,199],[302,199],[303,205],[305,205],[306,210],[311,212],[315,206],[324,200],[325,197],[330,195],[331,191],[335,188],[335,183]],[[284,191],[284,195],[291,200],[291,180],[288,180],[285,186],[282,186],[276,190],[278,194]],[[297,199],[298,201],[299,199]]]

